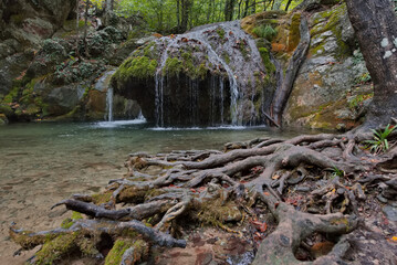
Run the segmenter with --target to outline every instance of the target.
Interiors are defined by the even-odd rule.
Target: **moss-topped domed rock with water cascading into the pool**
[[[163,36],[135,55],[134,62],[145,57],[157,64],[154,81],[136,76],[125,84],[125,92],[157,127],[254,125],[261,119],[260,89],[267,77],[261,55],[239,21]],[[153,71],[143,67],[144,74]],[[150,85],[143,92],[145,83],[154,89]],[[253,100],[248,107],[247,102]]]

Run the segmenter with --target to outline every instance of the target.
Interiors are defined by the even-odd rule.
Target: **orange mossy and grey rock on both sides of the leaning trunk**
[[[252,34],[263,25],[275,28],[278,35],[271,42],[271,51],[281,68],[285,68],[300,41],[300,19],[299,11],[276,20],[268,12],[243,19],[242,26]],[[345,4],[315,11],[309,24],[311,46],[284,109],[284,125],[348,129],[359,123],[372,91],[363,85],[370,77],[357,50]]]

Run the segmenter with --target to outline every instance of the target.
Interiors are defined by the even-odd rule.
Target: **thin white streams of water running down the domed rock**
[[[222,56],[220,55],[220,52],[222,51],[222,49],[213,46],[213,43],[211,44],[209,41],[209,38],[206,33],[210,32],[210,31],[215,31],[218,28],[222,28],[222,30],[224,32],[230,32],[230,39],[233,39],[233,41],[236,40],[248,40],[248,44],[247,46],[249,47],[249,50],[251,51],[250,57],[252,60],[252,63],[255,65],[257,70],[262,70],[263,66],[261,64],[261,59],[260,59],[260,54],[259,51],[255,46],[255,42],[252,38],[250,38],[241,28],[239,22],[233,21],[233,22],[226,22],[226,23],[219,23],[216,25],[210,25],[207,28],[202,28],[200,30],[195,30],[185,34],[180,34],[180,35],[173,35],[173,36],[163,36],[161,39],[158,40],[158,43],[160,43],[163,53],[159,60],[159,66],[157,67],[156,71],[156,75],[155,75],[155,117],[156,117],[156,126],[158,127],[164,127],[165,125],[165,66],[166,66],[166,62],[167,59],[169,57],[169,53],[171,51],[177,51],[178,49],[180,49],[180,41],[181,40],[190,40],[190,41],[195,41],[196,43],[199,43],[201,46],[205,47],[205,53],[208,57],[208,61],[210,64],[212,65],[221,65],[221,67],[224,70],[226,74],[227,74],[227,78],[229,82],[229,94],[230,94],[230,119],[228,118],[227,120],[231,120],[231,125],[232,126],[238,126],[241,125],[241,120],[242,120],[242,115],[241,115],[241,106],[239,106],[239,99],[241,98],[241,95],[243,92],[241,92],[241,88],[239,87],[239,82],[238,82],[238,76],[237,73],[234,73],[234,70],[232,70],[232,67],[229,65],[229,63],[227,63]],[[236,40],[234,40],[236,39]],[[233,41],[230,41],[231,44],[233,43]],[[229,44],[229,45],[231,45]],[[233,53],[233,51],[231,52]],[[239,65],[239,67],[243,68],[243,65]],[[248,75],[252,75],[252,73],[249,73]],[[254,80],[254,78],[252,78]],[[197,81],[191,81],[189,82],[190,84],[190,115],[192,117],[190,117],[191,120],[191,125],[195,126],[197,123],[197,117],[198,117],[198,113],[196,113],[195,109],[192,108],[197,108],[197,102],[198,102],[198,97],[199,97],[199,91],[200,87],[198,87],[199,82]],[[211,81],[211,86],[215,85],[215,81]],[[210,97],[211,97],[211,112],[210,112],[210,119],[212,120],[213,124],[213,117],[216,116],[215,114],[215,109],[218,109],[218,114],[220,116],[221,119],[221,125],[224,124],[226,121],[226,117],[223,116],[223,96],[224,94],[224,84],[223,84],[223,77],[219,77],[219,83],[216,85],[219,87],[219,95],[220,95],[220,103],[219,107],[215,107],[213,105],[217,104],[217,102],[215,100],[216,96],[215,96],[215,87],[210,87]],[[177,95],[176,95],[177,96]],[[171,120],[173,117],[167,117],[167,120]]]

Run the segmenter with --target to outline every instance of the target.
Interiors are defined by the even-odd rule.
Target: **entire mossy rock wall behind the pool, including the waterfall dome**
[[[157,126],[267,124],[300,43],[302,12],[270,11],[144,39],[127,40],[126,22],[91,26],[87,47],[79,42],[79,59],[75,20],[65,21],[73,2],[56,9],[58,1],[10,1],[7,10],[0,3],[0,114],[9,120],[103,119],[112,83],[116,118],[134,118],[142,108]],[[315,9],[284,124],[349,128],[370,100],[370,86],[362,86],[370,77],[345,6]],[[38,26],[30,26],[32,20]]]

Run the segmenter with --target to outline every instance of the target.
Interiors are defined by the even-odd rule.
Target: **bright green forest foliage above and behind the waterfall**
[[[91,0],[100,9],[106,0]],[[114,12],[138,15],[160,33],[182,32],[197,25],[236,20],[267,10],[292,10],[302,0],[115,0]]]

